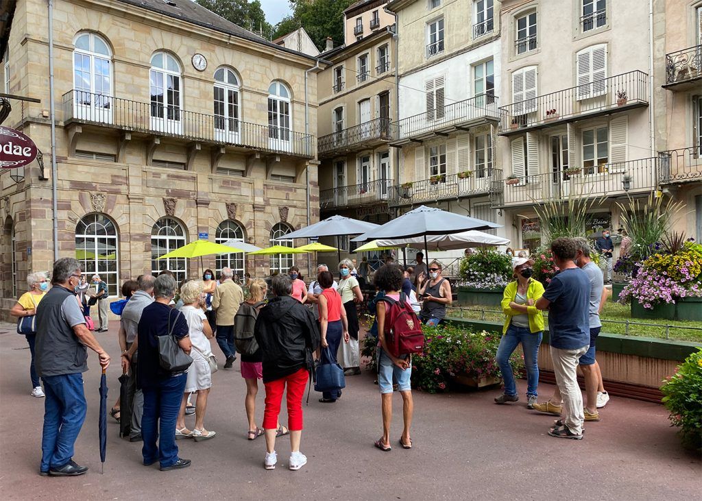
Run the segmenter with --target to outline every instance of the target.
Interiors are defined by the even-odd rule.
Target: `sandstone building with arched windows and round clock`
[[[29,135],[44,171],[0,175],[2,309],[53,262],[46,1],[4,2],[4,126]],[[11,25],[8,23],[11,22]],[[156,260],[198,238],[259,247],[319,218],[317,61],[191,1],[57,0],[53,11],[58,255],[119,284],[199,260]],[[243,275],[293,255],[204,258]]]

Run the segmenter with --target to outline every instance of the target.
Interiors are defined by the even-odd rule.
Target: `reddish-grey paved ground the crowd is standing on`
[[[117,324],[98,339],[119,354]],[[219,350],[214,349],[216,354]],[[302,450],[307,466],[290,472],[289,442],[277,445],[279,467],[263,469],[263,438],[247,441],[244,380],[220,370],[205,426],[211,441],[179,441],[192,467],[159,472],[141,465],[140,444],[119,439],[108,417],[107,463],[100,474],[98,385],[95,354],[85,374],[88,417],[75,460],[91,468],[77,478],[38,475],[43,400],[29,396],[29,351],[14,326],[0,324],[0,493],[16,499],[692,499],[701,495],[699,457],[685,453],[668,426],[665,408],[612,399],[602,422],[588,423],[583,441],[546,434],[551,417],[517,405],[495,406],[494,390],[465,394],[415,393],[412,450],[395,446],[401,432],[401,399],[395,397],[393,448],[373,448],[380,436],[380,398],[373,375],[347,378],[336,404],[305,407]],[[108,370],[113,403],[119,366]],[[520,382],[524,392],[524,382]],[[540,387],[542,396],[552,392]],[[258,396],[263,414],[263,395]],[[397,412],[399,411],[399,412]],[[189,423],[192,417],[187,418]],[[192,424],[191,424],[192,426]]]

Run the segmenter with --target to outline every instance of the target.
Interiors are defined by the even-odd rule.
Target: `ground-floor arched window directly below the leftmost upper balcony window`
[[[107,293],[119,294],[119,239],[117,228],[105,214],[88,214],[76,225],[76,259],[88,276],[95,273],[107,283]]]

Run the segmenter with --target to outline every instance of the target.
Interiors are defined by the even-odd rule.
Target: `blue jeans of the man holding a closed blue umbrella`
[[[41,435],[41,471],[60,468],[73,457],[73,445],[86,418],[83,375],[44,376],[44,431]]]

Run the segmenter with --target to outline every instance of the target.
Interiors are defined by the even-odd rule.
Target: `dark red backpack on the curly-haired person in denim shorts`
[[[392,356],[420,353],[424,349],[422,323],[406,302],[406,295],[400,294],[399,301],[388,296],[380,298],[385,307],[385,340]]]

